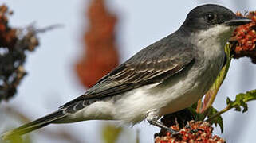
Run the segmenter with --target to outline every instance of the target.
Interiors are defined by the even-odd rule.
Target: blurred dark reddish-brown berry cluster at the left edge
[[[8,17],[13,14],[6,5],[0,6],[0,102],[8,100],[17,92],[17,87],[26,72],[23,64],[27,51],[37,47],[37,29],[12,28]]]

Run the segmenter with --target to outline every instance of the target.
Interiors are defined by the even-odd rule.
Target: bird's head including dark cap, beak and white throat
[[[237,26],[250,22],[250,19],[238,17],[226,7],[207,4],[191,10],[181,29],[202,33],[206,37],[225,37],[227,40]]]

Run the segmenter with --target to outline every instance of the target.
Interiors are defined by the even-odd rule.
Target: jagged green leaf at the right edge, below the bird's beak
[[[232,101],[230,98],[226,99],[226,104],[229,108],[235,108],[236,111],[241,111],[245,113],[248,110],[248,105],[246,102],[256,100],[256,90],[247,91],[246,93],[240,93],[236,95],[235,100]]]

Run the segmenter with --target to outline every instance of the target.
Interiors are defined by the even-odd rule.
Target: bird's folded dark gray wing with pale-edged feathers
[[[166,38],[144,48],[105,75],[85,95],[65,103],[60,108],[74,113],[96,100],[120,95],[147,84],[160,83],[183,70],[194,59],[193,48],[179,41],[167,41]]]

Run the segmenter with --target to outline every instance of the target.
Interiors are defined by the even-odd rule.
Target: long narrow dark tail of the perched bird
[[[33,122],[29,122],[23,126],[20,126],[16,129],[10,130],[6,133],[2,134],[3,140],[10,140],[12,137],[21,136],[25,133],[30,133],[35,129],[39,129],[41,127],[47,126],[52,122],[57,121],[58,119],[64,118],[66,114],[63,113],[62,110],[57,110],[56,112],[53,112],[52,114],[48,114],[45,117],[38,118],[37,120]]]

